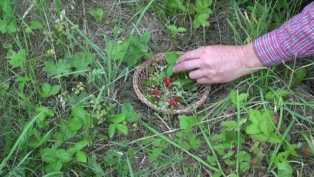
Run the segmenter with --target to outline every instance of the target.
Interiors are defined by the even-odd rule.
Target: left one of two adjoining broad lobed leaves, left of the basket
[[[45,67],[43,68],[43,71],[47,72],[47,76],[60,76],[62,74],[69,74],[72,72],[71,65],[67,64],[66,60],[59,59],[58,65],[55,64],[55,62],[52,60],[50,62],[45,62]]]

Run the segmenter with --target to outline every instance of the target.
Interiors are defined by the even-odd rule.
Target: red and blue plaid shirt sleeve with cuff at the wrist
[[[254,40],[253,46],[258,58],[267,67],[283,60],[314,55],[314,2],[279,29]]]

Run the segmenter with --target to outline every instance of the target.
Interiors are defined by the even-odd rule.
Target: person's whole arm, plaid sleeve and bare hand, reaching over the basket
[[[314,55],[314,2],[291,20],[244,46],[213,45],[187,52],[177,60],[173,71],[189,72],[200,84],[234,81],[296,57]]]

